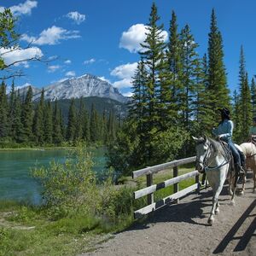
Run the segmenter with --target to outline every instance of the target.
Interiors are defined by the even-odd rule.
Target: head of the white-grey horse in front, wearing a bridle
[[[195,160],[195,168],[198,172],[204,172],[204,167],[206,165],[207,156],[209,154],[209,144],[208,139],[204,135],[202,137],[193,137],[195,140],[196,146],[196,160]]]

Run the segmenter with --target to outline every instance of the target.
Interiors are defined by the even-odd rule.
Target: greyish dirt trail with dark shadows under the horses
[[[207,218],[212,205],[212,191],[189,195],[178,205],[165,207],[144,224],[114,235],[85,255],[250,255],[256,256],[256,194],[249,179],[243,196],[230,195],[224,187],[220,195],[220,212],[212,226]]]

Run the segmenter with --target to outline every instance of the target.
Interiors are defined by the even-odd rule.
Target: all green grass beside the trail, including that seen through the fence
[[[193,167],[179,169],[179,175],[193,171]],[[154,183],[172,178],[172,169],[154,175]],[[133,211],[147,205],[147,196],[133,200],[132,192],[146,187],[146,177],[135,181],[123,177],[112,208],[119,215],[110,221],[104,216],[82,215],[53,221],[47,209],[14,201],[0,201],[0,255],[77,255],[90,252],[112,237],[111,232],[124,230],[133,223]],[[195,177],[179,183],[179,189],[195,183]],[[125,187],[127,186],[127,187]],[[126,189],[127,188],[127,189]],[[173,186],[154,193],[154,201],[172,195]]]

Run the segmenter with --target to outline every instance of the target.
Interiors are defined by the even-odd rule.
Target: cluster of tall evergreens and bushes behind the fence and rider
[[[167,43],[163,25],[152,5],[141,60],[133,77],[129,116],[109,147],[109,166],[125,174],[144,166],[195,154],[191,136],[206,134],[218,125],[218,108],[230,108],[235,138],[247,139],[256,111],[256,88],[251,90],[241,47],[239,91],[233,103],[224,67],[224,49],[217,18],[212,9],[207,54],[198,46],[189,25],[178,31],[172,11]]]

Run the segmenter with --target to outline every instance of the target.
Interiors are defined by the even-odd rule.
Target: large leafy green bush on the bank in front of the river
[[[71,151],[64,164],[53,161],[48,168],[32,171],[43,186],[42,196],[53,218],[77,211],[96,212],[98,195],[92,166],[91,155],[83,146]]]

